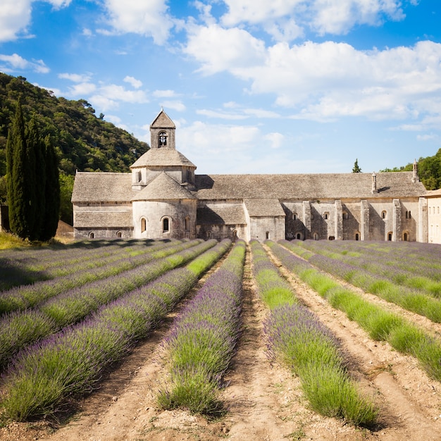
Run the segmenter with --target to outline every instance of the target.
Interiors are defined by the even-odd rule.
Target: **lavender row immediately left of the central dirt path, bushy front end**
[[[216,414],[223,374],[235,352],[242,308],[246,245],[238,241],[221,268],[182,310],[166,340],[170,382],[159,394],[165,409]]]

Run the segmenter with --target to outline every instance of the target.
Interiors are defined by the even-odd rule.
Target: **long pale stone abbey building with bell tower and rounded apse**
[[[130,173],[75,175],[76,238],[225,237],[428,242],[428,199],[413,172],[197,175],[161,111]]]

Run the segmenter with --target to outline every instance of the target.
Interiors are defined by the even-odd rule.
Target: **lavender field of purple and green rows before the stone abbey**
[[[144,421],[150,437],[125,433],[124,439],[178,439],[173,431],[161,438],[154,424],[166,415],[173,426],[170,411],[190,412],[208,427],[228,426],[231,434],[257,430],[258,414],[254,429],[239,424],[244,412],[251,418],[251,408],[242,417],[235,412],[238,403],[246,407],[242,394],[253,387],[254,399],[271,400],[254,385],[234,392],[235,383],[254,378],[242,375],[251,366],[242,365],[242,353],[251,350],[264,355],[254,381],[271,383],[278,366],[294,382],[286,392],[290,412],[287,404],[260,412],[270,418],[261,421],[263,432],[286,427],[292,439],[321,439],[327,428],[352,427],[349,440],[361,439],[356,428],[364,428],[363,439],[378,439],[395,418],[408,432],[434,433],[435,440],[441,436],[440,268],[440,247],[409,242],[119,240],[1,251],[0,439],[14,439],[7,436],[17,423],[42,421],[58,430],[50,439],[66,440],[65,418],[82,400],[99,397],[108,375],[163,329],[152,349],[161,355],[143,361],[153,366],[160,359],[162,366],[157,385],[142,395],[150,402],[147,414],[156,415]],[[393,380],[392,393],[378,383],[385,377]],[[406,392],[413,387],[418,394]],[[416,409],[409,424],[423,418],[418,428],[390,410],[400,394]],[[307,438],[313,431],[302,412],[321,421],[320,436]],[[221,420],[213,423],[213,416]]]

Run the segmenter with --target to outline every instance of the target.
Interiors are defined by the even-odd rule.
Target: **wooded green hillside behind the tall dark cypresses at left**
[[[72,224],[72,194],[75,170],[128,172],[129,166],[149,145],[95,115],[85,101],[57,98],[24,77],[0,73],[0,204],[6,203],[6,139],[20,100],[25,118],[35,115],[39,132],[50,135],[60,167],[61,219]]]

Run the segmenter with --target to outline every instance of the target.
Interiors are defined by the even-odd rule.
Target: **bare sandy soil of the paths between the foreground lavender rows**
[[[428,378],[416,359],[374,342],[303,282],[282,267],[280,271],[340,340],[349,371],[380,408],[377,427],[354,428],[311,411],[296,376],[268,357],[262,330],[267,309],[256,294],[248,254],[242,335],[221,391],[225,414],[207,419],[157,406],[157,392],[168,377],[161,342],[175,311],[103,378],[99,390],[73,403],[68,421],[13,423],[0,430],[0,440],[441,440],[441,384]],[[406,316],[430,328],[418,316]],[[432,329],[437,331],[435,325]]]

